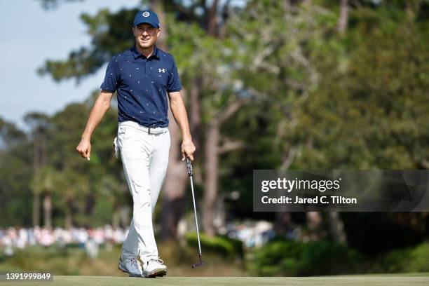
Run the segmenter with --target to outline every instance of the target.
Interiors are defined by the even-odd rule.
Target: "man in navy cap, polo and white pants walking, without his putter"
[[[90,160],[90,137],[116,91],[119,123],[114,139],[115,154],[121,151],[133,200],[130,231],[123,243],[118,268],[137,277],[167,273],[167,267],[158,257],[152,226],[152,213],[167,171],[170,149],[167,94],[172,114],[182,131],[182,160],[189,157],[193,161],[195,151],[175,60],[156,47],[160,33],[156,13],[140,11],[135,15],[132,27],[135,46],[110,60],[100,86],[102,91],[76,147],[83,158]]]

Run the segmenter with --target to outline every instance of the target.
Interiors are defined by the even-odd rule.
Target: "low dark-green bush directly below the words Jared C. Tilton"
[[[362,261],[357,251],[330,241],[273,240],[254,249],[250,257],[250,271],[262,276],[356,273]]]

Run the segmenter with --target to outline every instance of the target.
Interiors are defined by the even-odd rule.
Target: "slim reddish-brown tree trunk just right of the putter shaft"
[[[219,177],[219,123],[216,120],[207,126],[205,137],[205,197],[203,212],[203,227],[208,236],[214,236],[213,219],[217,198],[217,179]]]

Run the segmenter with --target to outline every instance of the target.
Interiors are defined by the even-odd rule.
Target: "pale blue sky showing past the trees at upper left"
[[[65,59],[71,50],[90,43],[81,13],[94,15],[100,8],[117,11],[139,4],[139,0],[85,0],[46,11],[37,0],[0,1],[0,116],[24,128],[22,118],[30,111],[52,115],[71,102],[85,100],[100,87],[105,67],[79,86],[73,79],[55,83],[50,76],[36,74],[36,69],[47,59]]]

